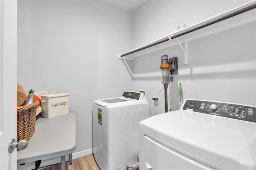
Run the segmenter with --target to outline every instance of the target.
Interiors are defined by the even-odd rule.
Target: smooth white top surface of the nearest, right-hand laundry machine
[[[256,123],[178,110],[140,122],[158,142],[216,169],[256,169]]]

